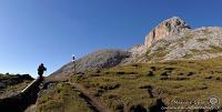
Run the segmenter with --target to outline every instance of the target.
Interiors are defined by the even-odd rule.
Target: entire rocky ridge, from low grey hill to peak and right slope
[[[203,27],[191,30],[191,27],[178,17],[160,22],[144,40],[130,50],[99,50],[74,63],[68,63],[52,73],[72,74],[97,71],[117,65],[138,62],[160,62],[168,60],[199,60],[222,55],[222,28]],[[60,77],[60,75],[58,75]]]

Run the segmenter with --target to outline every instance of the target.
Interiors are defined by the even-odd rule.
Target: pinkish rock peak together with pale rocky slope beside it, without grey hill
[[[147,37],[144,44],[129,50],[127,63],[167,60],[199,60],[222,55],[222,28],[202,27],[191,30],[182,19],[162,21]]]

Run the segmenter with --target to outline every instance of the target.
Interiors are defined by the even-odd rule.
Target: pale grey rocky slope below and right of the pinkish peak
[[[220,55],[222,55],[222,28],[203,27],[157,41],[134,62],[200,60]]]

